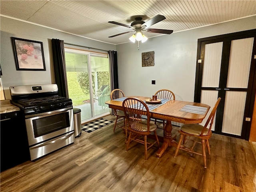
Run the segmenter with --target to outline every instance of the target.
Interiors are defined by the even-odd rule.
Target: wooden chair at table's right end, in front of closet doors
[[[212,112],[210,113],[210,116],[208,117],[204,126],[202,126],[200,124],[184,124],[180,127],[180,130],[178,130],[178,132],[180,133],[180,140],[178,142],[174,157],[177,156],[178,151],[180,149],[185,150],[185,151],[189,152],[190,154],[194,153],[194,154],[202,155],[203,161],[204,161],[204,168],[206,168],[205,146],[207,147],[208,154],[210,155],[211,152],[210,152],[209,139],[212,136],[212,130],[211,130],[212,124],[214,122],[214,116],[216,114],[216,110],[217,110],[218,104],[220,103],[220,100],[221,100],[221,98],[218,98],[218,100],[217,100],[216,104],[214,105],[214,108],[212,109]],[[209,126],[209,128],[207,128],[207,126],[209,124],[210,124],[210,126]],[[198,142],[193,139],[187,139],[187,140],[192,140],[193,145],[191,148],[186,148],[184,146],[186,136],[191,136],[192,138],[199,138],[201,140],[201,142]],[[183,139],[183,145],[181,145],[182,139]],[[200,143],[202,145],[202,153],[194,151],[194,146],[196,143]]]

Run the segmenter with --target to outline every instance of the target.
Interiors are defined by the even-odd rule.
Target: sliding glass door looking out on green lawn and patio
[[[68,94],[81,109],[81,121],[110,114],[110,73],[107,54],[65,48]]]

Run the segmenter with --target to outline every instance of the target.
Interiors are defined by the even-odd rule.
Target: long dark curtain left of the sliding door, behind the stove
[[[62,97],[68,97],[68,83],[63,40],[52,39],[52,55],[55,82],[58,85],[58,94]]]

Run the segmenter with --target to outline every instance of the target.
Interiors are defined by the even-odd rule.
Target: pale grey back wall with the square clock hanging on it
[[[150,38],[140,50],[137,43],[117,45],[119,88],[126,96],[149,97],[166,88],[176,100],[193,101],[198,39],[255,28],[256,16]],[[142,67],[141,53],[148,51],[155,52],[155,66]]]

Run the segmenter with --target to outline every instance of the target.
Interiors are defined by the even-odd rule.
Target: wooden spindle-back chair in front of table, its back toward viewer
[[[156,134],[156,129],[158,126],[154,123],[150,123],[150,112],[146,103],[138,98],[128,97],[123,101],[123,109],[125,117],[127,120],[127,130],[129,131],[129,136],[126,144],[126,151],[128,151],[129,144],[131,141],[136,141],[138,143],[144,144],[144,154],[145,159],[148,159],[148,149],[157,143],[158,148],[159,140]],[[146,116],[147,119],[142,118]],[[151,143],[148,142],[147,136],[154,132],[156,140]]]

